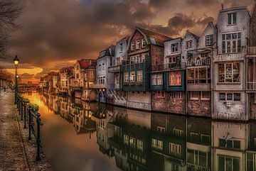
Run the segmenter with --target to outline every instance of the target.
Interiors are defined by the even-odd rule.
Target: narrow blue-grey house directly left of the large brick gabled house
[[[115,47],[112,65],[108,68],[109,73],[114,74],[114,78],[109,81],[108,103],[119,106],[126,106],[127,94],[122,91],[122,61],[127,60],[127,43],[129,36],[122,38]]]

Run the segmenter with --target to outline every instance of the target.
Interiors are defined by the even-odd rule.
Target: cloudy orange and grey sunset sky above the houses
[[[98,53],[126,35],[135,26],[171,38],[187,30],[201,35],[208,22],[216,23],[224,8],[247,6],[254,0],[22,0],[16,23],[22,28],[9,39],[9,56],[0,66],[38,82],[51,70],[74,65],[79,59],[97,59]]]

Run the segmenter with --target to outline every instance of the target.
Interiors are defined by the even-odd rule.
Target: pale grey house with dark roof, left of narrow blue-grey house
[[[97,58],[96,65],[96,84],[92,86],[97,91],[97,101],[107,103],[107,93],[109,89],[109,82],[114,79],[113,73],[108,72],[108,68],[114,62],[115,46],[111,45],[109,48],[102,50]]]

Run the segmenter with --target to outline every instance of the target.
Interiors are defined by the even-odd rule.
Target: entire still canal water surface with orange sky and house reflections
[[[53,170],[256,169],[256,123],[212,121],[24,94],[39,105]]]

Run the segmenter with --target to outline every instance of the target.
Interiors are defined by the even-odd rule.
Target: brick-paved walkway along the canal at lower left
[[[18,117],[14,106],[14,93],[10,89],[0,92],[0,171],[52,170],[46,156],[36,162],[35,140],[28,140],[28,130]]]

